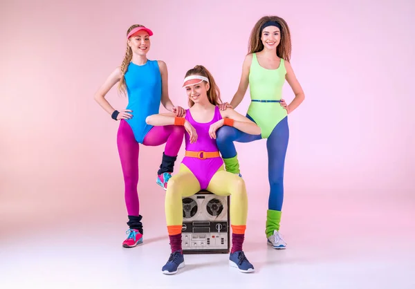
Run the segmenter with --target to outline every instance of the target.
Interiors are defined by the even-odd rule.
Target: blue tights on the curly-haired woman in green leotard
[[[247,118],[252,120],[249,115]],[[254,121],[254,120],[252,120]],[[279,122],[266,140],[268,151],[268,180],[270,182],[270,196],[268,209],[281,211],[284,201],[284,163],[288,147],[289,129],[287,117]],[[253,142],[260,140],[261,135],[243,133],[234,127],[223,126],[216,132],[216,144],[219,147],[222,158],[234,158],[237,156],[233,142]]]

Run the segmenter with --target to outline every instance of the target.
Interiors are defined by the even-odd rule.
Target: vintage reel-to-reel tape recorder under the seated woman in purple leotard
[[[229,196],[201,191],[183,198],[183,253],[228,253]]]

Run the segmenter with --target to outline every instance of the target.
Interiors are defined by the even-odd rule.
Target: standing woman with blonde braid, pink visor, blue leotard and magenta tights
[[[140,144],[159,146],[166,144],[157,184],[167,189],[167,181],[172,176],[174,162],[183,142],[184,129],[174,125],[153,127],[145,122],[149,115],[158,113],[160,102],[165,109],[176,116],[185,111],[174,106],[169,99],[167,66],[161,60],[147,59],[150,49],[150,36],[153,32],[145,26],[135,24],[127,30],[127,51],[120,67],[117,67],[100,89],[95,100],[111,115],[120,120],[117,134],[118,153],[124,176],[124,198],[127,206],[129,230],[127,239],[122,243],[125,248],[142,243],[142,216],[138,201],[138,152]],[[113,109],[105,95],[118,82],[118,89],[128,96],[126,109]]]

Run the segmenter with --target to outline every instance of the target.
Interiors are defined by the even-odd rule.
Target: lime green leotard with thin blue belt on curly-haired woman
[[[257,54],[253,53],[249,73],[251,100],[281,100],[285,75],[284,59],[277,69],[266,69],[259,65]],[[261,137],[268,138],[287,111],[279,102],[251,102],[248,115],[261,127]]]

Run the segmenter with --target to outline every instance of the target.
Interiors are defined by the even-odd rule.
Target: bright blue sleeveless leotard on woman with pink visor
[[[127,109],[133,111],[133,118],[127,120],[134,137],[142,144],[153,127],[146,124],[149,115],[157,114],[161,101],[161,75],[157,60],[147,60],[143,65],[130,62],[124,75],[127,84]]]

